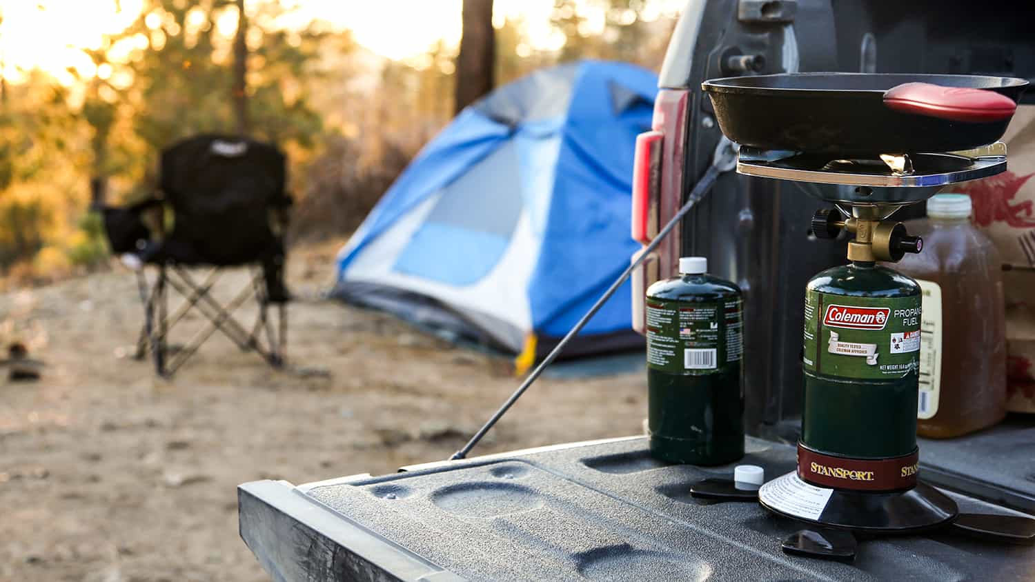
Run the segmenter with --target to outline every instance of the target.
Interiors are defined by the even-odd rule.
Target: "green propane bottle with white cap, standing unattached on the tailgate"
[[[651,455],[719,465],[744,456],[740,288],[708,275],[701,256],[647,289]]]

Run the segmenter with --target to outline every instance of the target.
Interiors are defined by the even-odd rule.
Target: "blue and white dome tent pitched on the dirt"
[[[623,63],[542,69],[465,109],[338,254],[334,295],[541,356],[628,265],[635,136],[657,78]],[[626,283],[566,355],[635,346]]]

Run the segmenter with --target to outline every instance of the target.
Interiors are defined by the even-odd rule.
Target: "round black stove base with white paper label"
[[[763,485],[759,502],[799,521],[883,534],[934,529],[948,525],[958,514],[955,501],[923,482],[908,491],[875,493],[816,487],[797,472]]]

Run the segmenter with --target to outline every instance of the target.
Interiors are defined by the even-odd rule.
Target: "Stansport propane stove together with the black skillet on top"
[[[874,533],[960,525],[952,499],[917,480],[920,287],[881,264],[923,248],[890,220],[897,209],[1006,170],[998,140],[1027,85],[885,73],[702,85],[722,133],[741,145],[737,172],[789,180],[833,203],[816,213],[812,233],[852,237],[849,264],[806,285],[798,467],[759,489],[768,510]],[[790,542],[802,549],[815,540]]]

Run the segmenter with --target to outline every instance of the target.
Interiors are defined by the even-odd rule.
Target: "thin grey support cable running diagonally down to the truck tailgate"
[[[617,292],[618,288],[621,287],[622,284],[625,282],[625,280],[629,278],[629,275],[632,274],[632,271],[635,270],[635,268],[639,267],[640,264],[643,263],[644,259],[648,255],[650,255],[650,253],[655,248],[657,248],[657,246],[661,243],[664,237],[668,236],[669,233],[671,233],[672,229],[675,228],[676,224],[678,224],[679,221],[683,218],[683,216],[686,215],[686,213],[689,212],[691,208],[693,208],[693,205],[697,204],[698,201],[700,201],[701,197],[705,195],[705,193],[711,190],[711,187],[715,184],[715,179],[718,178],[718,175],[719,175],[719,169],[715,164],[708,166],[708,170],[705,172],[705,175],[702,176],[701,180],[698,181],[698,183],[693,186],[693,189],[690,191],[690,195],[687,196],[686,203],[683,204],[682,208],[679,209],[679,212],[677,212],[676,215],[673,216],[671,220],[669,220],[669,222],[664,225],[664,227],[661,228],[660,232],[658,232],[657,236],[654,237],[654,240],[651,241],[650,244],[647,245],[647,247],[643,250],[643,252],[640,253],[640,256],[638,256],[637,259],[633,261],[628,266],[628,268],[626,268],[625,271],[622,272],[622,275],[618,277],[618,279],[615,280],[615,282],[612,283],[610,287],[608,287],[608,290],[604,292],[604,294],[600,297],[600,299],[596,300],[596,303],[593,304],[593,307],[589,308],[589,311],[587,311],[586,314],[582,316],[582,319],[579,319],[579,323],[575,324],[574,327],[571,328],[571,330],[568,331],[568,333],[565,334],[563,338],[561,338],[561,341],[558,342],[557,345],[552,350],[550,350],[550,354],[548,354],[546,357],[542,360],[542,362],[540,362],[539,365],[536,366],[534,370],[532,370],[532,372],[528,375],[528,377],[525,378],[525,381],[523,381],[521,386],[518,387],[518,390],[515,390],[513,394],[510,395],[510,398],[507,398],[506,402],[504,402],[503,405],[500,406],[499,409],[493,413],[492,418],[490,418],[489,421],[484,425],[482,425],[480,429],[478,429],[478,432],[476,432],[474,436],[471,437],[471,440],[469,440],[467,445],[464,446],[463,449],[453,453],[452,457],[449,457],[450,461],[464,459],[467,457],[468,453],[470,453],[471,450],[478,445],[478,441],[480,441],[481,438],[485,436],[485,433],[487,433],[493,428],[493,426],[495,426],[496,423],[499,422],[501,418],[503,418],[503,415],[507,413],[507,410],[509,410],[510,407],[513,406],[514,402],[516,402],[518,399],[521,398],[523,394],[525,394],[525,391],[528,390],[530,386],[532,386],[532,382],[538,379],[539,375],[542,374],[542,371],[546,369],[546,366],[549,366],[554,362],[554,360],[561,353],[561,350],[564,349],[564,346],[567,345],[568,341],[570,341],[572,337],[574,337],[579,332],[581,332],[582,329],[586,327],[586,324],[588,324],[589,320],[593,318],[593,315],[596,315],[596,312],[599,311],[601,307],[603,307],[603,304],[607,303],[608,300],[611,299],[613,295],[615,295],[615,292]]]

